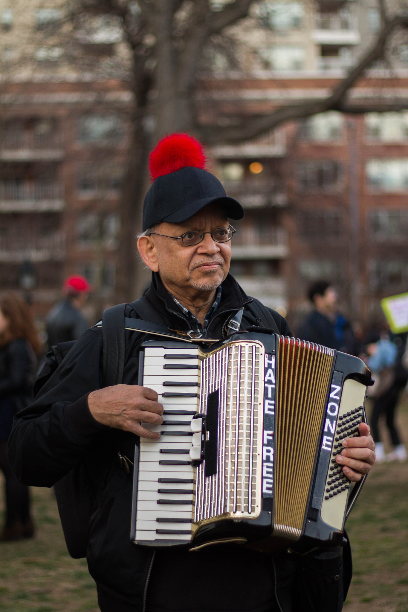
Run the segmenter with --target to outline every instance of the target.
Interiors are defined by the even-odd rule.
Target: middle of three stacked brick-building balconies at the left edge
[[[60,212],[64,209],[64,189],[58,182],[0,181],[1,212]]]

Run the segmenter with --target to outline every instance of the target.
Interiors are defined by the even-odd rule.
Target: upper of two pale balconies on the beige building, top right
[[[312,38],[318,45],[358,45],[361,42],[357,15],[317,13]]]

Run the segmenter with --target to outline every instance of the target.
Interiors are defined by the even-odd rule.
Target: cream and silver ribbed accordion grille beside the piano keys
[[[255,342],[231,343],[201,362],[200,412],[219,390],[218,444],[216,473],[206,476],[206,460],[197,469],[196,523],[259,515],[263,362],[264,348]]]

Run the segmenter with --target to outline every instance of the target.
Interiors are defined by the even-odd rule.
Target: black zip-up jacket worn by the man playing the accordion
[[[190,329],[157,274],[145,297],[172,329]],[[241,307],[245,308],[241,329],[256,323],[262,326],[245,307],[251,301],[229,275],[207,335],[223,337],[225,324]],[[286,321],[270,312],[280,332],[290,335]],[[125,314],[138,318],[132,304]],[[130,330],[125,333],[124,383],[137,384],[139,346],[148,338]],[[9,441],[9,460],[21,482],[42,487],[51,487],[83,461],[95,496],[87,561],[100,591],[113,598],[112,610],[140,612],[145,592],[149,612],[271,611],[275,610],[275,571],[278,591],[282,591],[282,600],[287,600],[282,604],[284,612],[341,610],[341,558],[299,562],[294,555],[281,553],[275,558],[274,569],[270,556],[234,546],[210,547],[197,553],[180,549],[157,552],[145,591],[152,551],[130,543],[132,478],[122,470],[117,457],[118,445],[122,454],[132,457],[135,436],[98,424],[87,407],[87,394],[102,385],[101,356],[100,328],[88,330],[34,403],[18,414]],[[311,569],[311,562],[317,563],[317,569]],[[304,584],[304,589],[293,590],[294,581],[297,586]],[[313,591],[318,593],[317,607],[308,605],[308,600],[316,600]],[[302,603],[299,600],[292,607],[297,594]]]

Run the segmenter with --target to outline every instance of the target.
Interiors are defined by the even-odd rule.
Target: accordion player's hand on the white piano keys
[[[158,440],[160,433],[141,426],[141,422],[154,425],[163,423],[163,406],[157,398],[157,393],[148,387],[117,384],[92,391],[88,395],[88,406],[94,419],[103,425]]]

